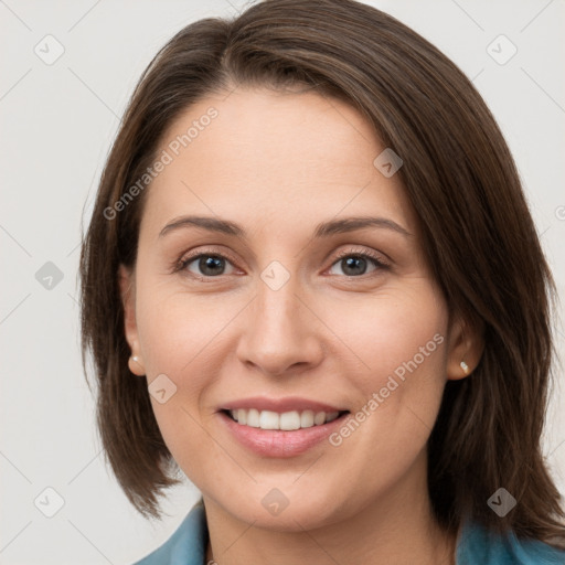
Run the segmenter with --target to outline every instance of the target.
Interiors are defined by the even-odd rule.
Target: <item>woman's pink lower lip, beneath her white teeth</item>
[[[262,456],[285,458],[301,455],[327,439],[337,427],[343,424],[349,413],[342,414],[328,424],[291,431],[254,428],[238,424],[223,412],[218,415],[244,447]]]

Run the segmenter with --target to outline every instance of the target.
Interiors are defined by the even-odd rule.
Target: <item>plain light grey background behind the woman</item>
[[[370,3],[422,33],[473,79],[516,159],[565,296],[565,2]],[[164,542],[199,495],[191,484],[171,491],[163,507],[170,516],[150,523],[104,465],[78,350],[81,217],[86,202],[89,218],[119,117],[152,55],[185,24],[243,6],[0,0],[2,564],[131,563]],[[52,65],[34,53],[47,34],[65,50]],[[503,65],[487,51],[500,34],[518,47]],[[510,53],[509,44],[497,45],[499,58]],[[51,290],[35,278],[47,262],[64,275]],[[558,331],[563,355],[563,326]],[[557,369],[544,448],[565,492],[563,374]],[[55,509],[47,487],[64,499],[53,518],[34,505],[41,494],[42,508]]]

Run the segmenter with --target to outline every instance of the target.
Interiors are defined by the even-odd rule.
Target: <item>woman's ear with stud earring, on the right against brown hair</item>
[[[484,351],[484,323],[454,315],[448,330],[447,379],[457,381],[469,376]],[[462,362],[462,364],[461,364]]]

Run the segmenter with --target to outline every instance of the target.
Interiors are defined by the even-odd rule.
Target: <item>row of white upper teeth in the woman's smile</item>
[[[282,429],[290,431],[292,429],[321,426],[322,424],[334,420],[340,413],[315,413],[312,411],[303,411],[299,413],[298,411],[292,411],[279,414],[271,411],[259,412],[255,408],[250,408],[248,411],[238,408],[235,411],[230,411],[230,414],[232,415],[233,419],[244,426],[250,426],[252,428]]]

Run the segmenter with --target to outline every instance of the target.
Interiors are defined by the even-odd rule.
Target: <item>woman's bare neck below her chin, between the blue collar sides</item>
[[[456,535],[437,523],[425,473],[416,478],[405,478],[407,484],[376,497],[351,516],[310,530],[297,523],[294,532],[243,522],[203,494],[210,533],[205,563],[454,565]]]

